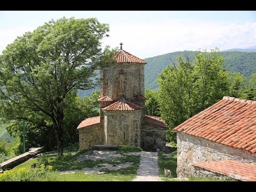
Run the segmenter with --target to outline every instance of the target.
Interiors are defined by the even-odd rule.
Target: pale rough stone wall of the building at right
[[[228,159],[256,165],[256,154],[193,135],[177,133],[177,146],[177,175],[181,178],[198,174],[193,163]]]

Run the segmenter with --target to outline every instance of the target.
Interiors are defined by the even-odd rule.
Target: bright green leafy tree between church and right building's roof
[[[169,126],[169,141],[173,143],[176,137],[172,129],[219,101],[228,94],[230,85],[218,49],[195,54],[194,62],[187,56],[177,60],[178,67],[168,66],[157,79],[161,117]]]

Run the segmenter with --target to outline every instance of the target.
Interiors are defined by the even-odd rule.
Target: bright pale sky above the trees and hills
[[[0,53],[17,36],[51,19],[97,18],[109,24],[102,47],[145,59],[175,51],[256,45],[256,11],[0,11]]]

